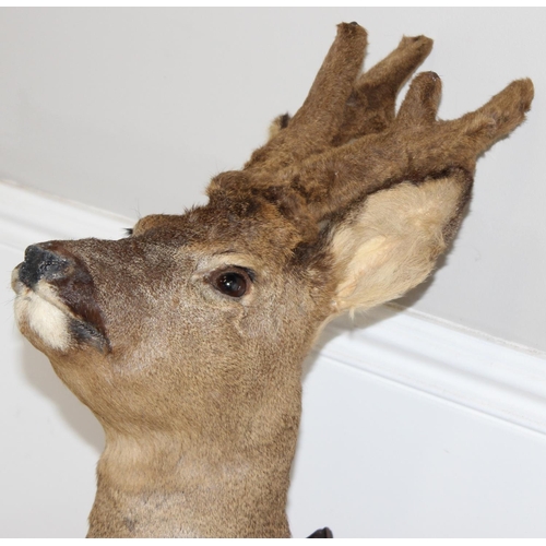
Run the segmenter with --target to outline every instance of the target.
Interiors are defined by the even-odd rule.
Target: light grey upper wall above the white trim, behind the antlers
[[[478,163],[448,266],[403,302],[546,351],[543,9],[2,9],[0,177],[129,223],[203,202],[301,104],[341,21],[368,29],[367,67],[432,37],[443,118],[534,80],[527,122]]]

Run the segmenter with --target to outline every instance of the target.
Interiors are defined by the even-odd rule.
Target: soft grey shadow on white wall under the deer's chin
[[[103,427],[57,377],[49,359],[25,340],[20,361],[28,383],[55,402],[69,427],[98,454],[102,453],[105,443]]]

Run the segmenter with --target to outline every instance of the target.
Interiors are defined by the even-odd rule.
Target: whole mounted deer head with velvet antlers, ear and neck
[[[104,427],[88,536],[289,536],[301,363],[333,317],[431,272],[476,158],[523,119],[530,80],[437,119],[424,36],[359,74],[337,36],[297,114],[209,203],[120,240],[49,241],[14,271],[23,334]]]

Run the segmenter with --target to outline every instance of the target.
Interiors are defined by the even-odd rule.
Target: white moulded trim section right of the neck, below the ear
[[[546,355],[395,306],[357,323],[330,324],[321,355],[546,434]]]

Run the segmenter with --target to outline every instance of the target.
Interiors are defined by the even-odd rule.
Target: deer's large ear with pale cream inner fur
[[[367,309],[423,282],[454,236],[472,178],[456,171],[369,195],[331,239],[334,312]]]

